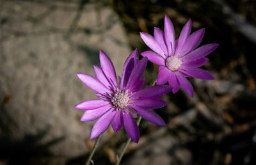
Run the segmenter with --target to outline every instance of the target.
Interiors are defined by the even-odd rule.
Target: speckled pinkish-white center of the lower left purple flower
[[[111,99],[113,106],[118,110],[125,109],[130,103],[130,96],[127,91],[117,89]]]

